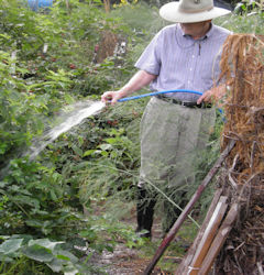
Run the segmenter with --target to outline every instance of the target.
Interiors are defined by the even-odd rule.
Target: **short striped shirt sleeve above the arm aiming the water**
[[[158,32],[147,47],[144,50],[138,62],[135,63],[135,67],[139,69],[143,69],[152,75],[158,75],[161,69],[161,36],[162,32]]]

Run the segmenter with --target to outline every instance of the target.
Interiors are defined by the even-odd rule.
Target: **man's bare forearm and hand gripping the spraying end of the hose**
[[[128,84],[125,84],[120,90],[117,91],[106,91],[101,96],[103,102],[111,102],[111,105],[117,103],[120,98],[127,97],[132,92],[142,89],[144,86],[153,81],[157,76],[152,75],[145,70],[139,70]]]

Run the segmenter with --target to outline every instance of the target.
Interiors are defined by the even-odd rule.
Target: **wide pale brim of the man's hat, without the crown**
[[[210,19],[219,18],[229,14],[231,11],[213,7],[210,10],[201,12],[183,12],[179,10],[179,2],[169,2],[160,9],[160,15],[170,22],[175,23],[196,23]]]

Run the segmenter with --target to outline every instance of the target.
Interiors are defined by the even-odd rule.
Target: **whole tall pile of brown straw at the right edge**
[[[222,148],[222,185],[240,217],[217,263],[217,274],[262,274],[264,268],[264,36],[230,35],[224,43],[221,77],[229,84]]]

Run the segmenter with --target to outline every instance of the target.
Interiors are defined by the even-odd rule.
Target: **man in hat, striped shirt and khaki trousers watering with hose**
[[[215,109],[209,103],[226,91],[224,85],[218,82],[219,62],[221,46],[230,34],[211,20],[228,13],[230,11],[213,7],[212,0],[164,4],[161,16],[177,24],[165,26],[155,35],[135,64],[140,70],[124,87],[101,97],[102,101],[114,105],[146,85],[157,91],[187,90],[153,97],[142,118],[136,208],[136,232],[141,237],[151,237],[156,190],[167,190],[169,197],[182,205],[193,178],[195,153],[206,147],[215,123]],[[202,96],[191,90],[201,91]],[[172,204],[164,205],[164,232],[178,215]]]

